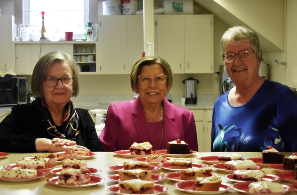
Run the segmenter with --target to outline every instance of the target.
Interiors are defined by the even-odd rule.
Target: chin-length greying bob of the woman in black
[[[31,90],[38,98],[44,98],[43,94],[43,80],[47,75],[50,67],[55,63],[66,63],[69,65],[72,75],[74,76],[73,81],[73,96],[78,96],[79,93],[79,68],[75,60],[66,53],[61,51],[52,51],[42,56],[36,63],[32,76],[31,76]]]

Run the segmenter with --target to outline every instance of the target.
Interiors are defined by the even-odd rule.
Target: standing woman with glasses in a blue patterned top
[[[289,87],[259,76],[257,34],[246,27],[229,28],[221,52],[235,87],[214,104],[211,150],[297,151],[297,98]]]

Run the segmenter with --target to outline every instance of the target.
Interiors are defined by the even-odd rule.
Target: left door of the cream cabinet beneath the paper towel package
[[[157,52],[173,73],[184,73],[183,17],[157,17]]]

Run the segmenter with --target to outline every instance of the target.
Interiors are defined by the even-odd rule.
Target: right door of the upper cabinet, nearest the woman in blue
[[[210,17],[185,17],[185,73],[213,72],[213,31]]]

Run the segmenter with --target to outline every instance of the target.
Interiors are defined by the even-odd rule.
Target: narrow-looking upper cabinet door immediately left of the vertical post
[[[128,71],[144,51],[143,17],[128,18]],[[128,72],[129,73],[129,72]]]

